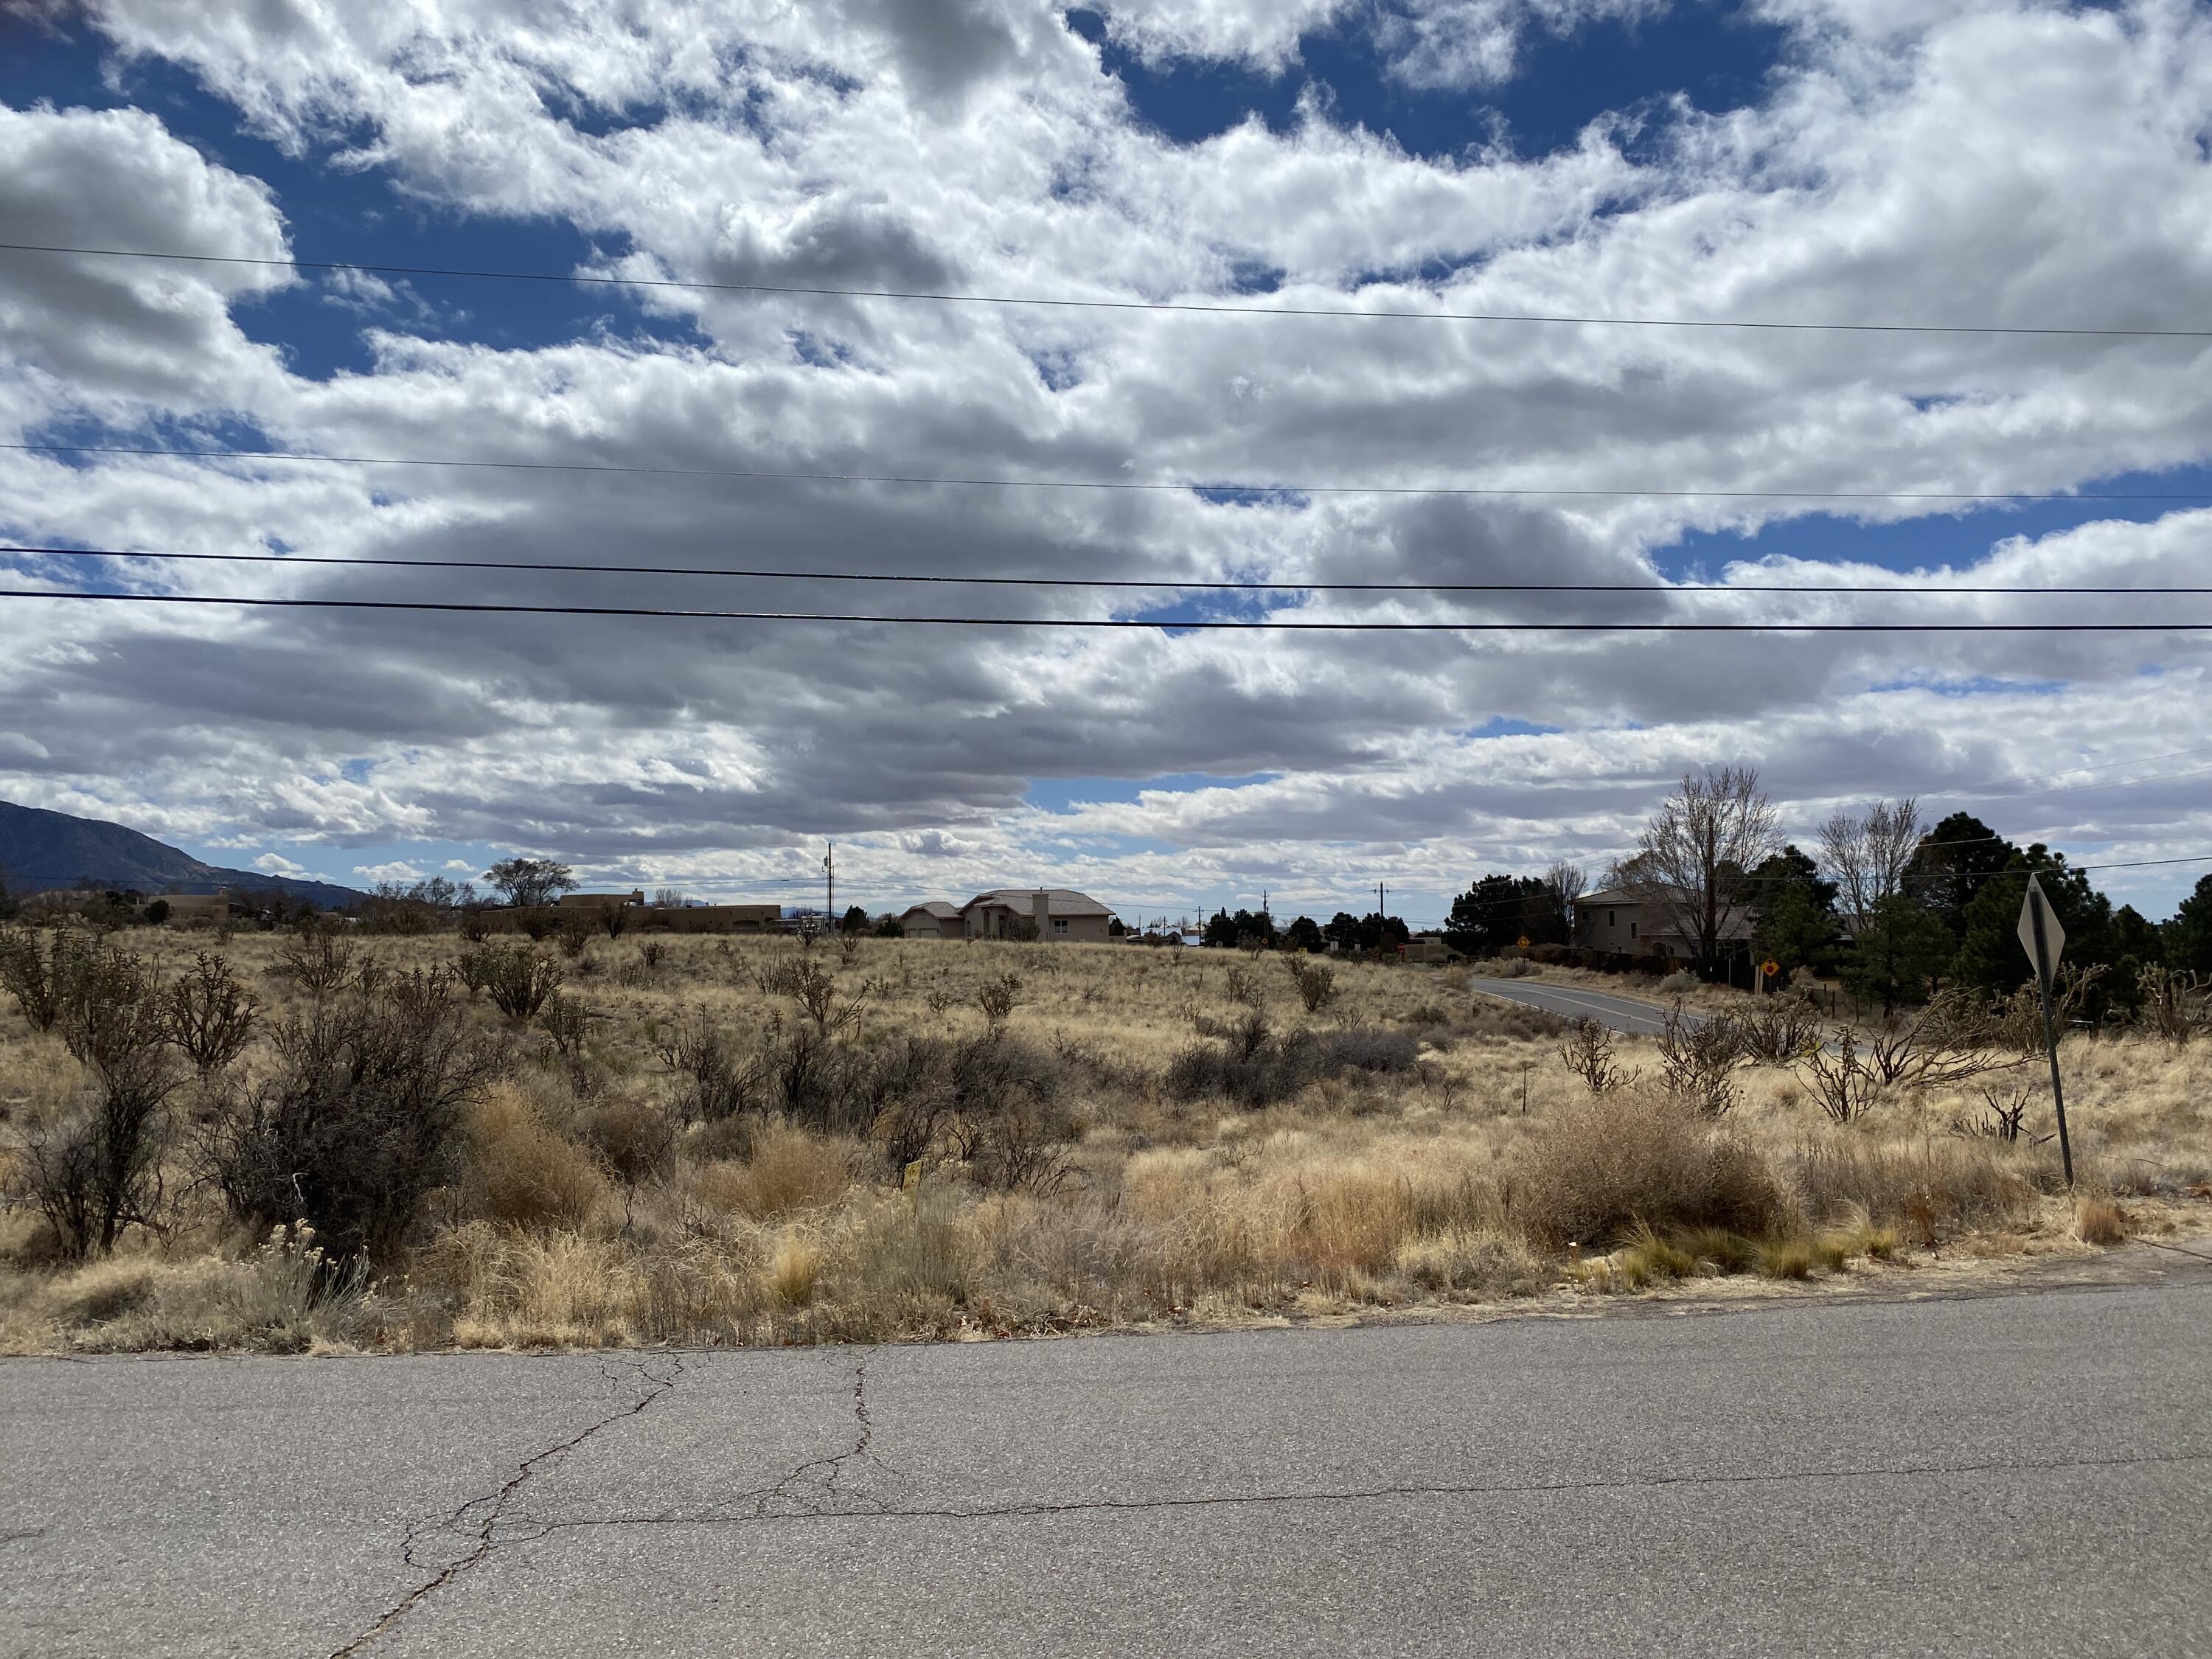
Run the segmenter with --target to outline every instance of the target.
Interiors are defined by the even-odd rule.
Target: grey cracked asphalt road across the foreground
[[[2208,1312],[0,1360],[0,1655],[2212,1655]]]

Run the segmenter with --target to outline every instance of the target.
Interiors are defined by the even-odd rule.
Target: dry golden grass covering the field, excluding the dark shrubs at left
[[[208,947],[150,931],[124,942],[170,973]],[[279,945],[226,947],[272,1020],[307,998],[272,971]],[[2112,1194],[2077,1206],[2042,1139],[2048,1104],[2017,1141],[1975,1133],[1973,1091],[1891,1091],[1838,1128],[1790,1071],[1754,1066],[1736,1077],[1743,1104],[1714,1121],[1657,1093],[1641,1040],[1617,1053],[1641,1082],[1593,1099],[1555,1024],[1478,1000],[1462,969],[1336,962],[1310,1011],[1279,964],[1141,947],[865,940],[849,964],[818,951],[841,998],[872,987],[849,1029],[790,1082],[790,1104],[761,1093],[790,1077],[776,1051],[743,1110],[701,1121],[655,1037],[703,1024],[752,1064],[810,1024],[776,989],[801,953],[787,940],[657,945],[650,964],[637,940],[595,940],[568,964],[568,995],[597,1015],[580,1048],[473,1004],[509,1062],[392,1261],[338,1276],[303,1270],[312,1245],[241,1237],[192,1181],[192,1115],[212,1110],[195,1095],[161,1237],[133,1230],[113,1259],[73,1265],[29,1206],[0,1206],[0,1352],[1232,1325],[1730,1274],[1827,1281],[1931,1250],[2086,1250],[2188,1223],[2212,1192],[2203,1044],[2068,1044],[2077,1164]],[[460,945],[356,949],[400,971],[451,962]],[[1020,991],[991,1040],[978,995],[1009,973]],[[1252,1015],[1294,1057],[1254,1091],[1263,1106],[1177,1086],[1177,1055],[1234,1051]],[[237,1064],[252,1077],[265,1053]],[[60,1042],[0,1011],[0,1183],[15,1179],[7,1148],[82,1088]]]

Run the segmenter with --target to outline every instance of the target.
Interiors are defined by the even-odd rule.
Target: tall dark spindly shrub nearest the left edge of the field
[[[106,1254],[126,1225],[155,1221],[168,1099],[184,1077],[137,956],[82,953],[55,1024],[91,1073],[91,1097],[22,1135],[20,1179],[64,1256]]]

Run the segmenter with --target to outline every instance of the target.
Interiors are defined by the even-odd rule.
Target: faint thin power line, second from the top
[[[830,473],[770,467],[644,467],[593,460],[456,460],[449,456],[325,456],[301,449],[168,449],[159,445],[0,442],[35,456],[161,456],[173,460],[290,460],[327,467],[465,467],[478,471],[613,473],[639,478],[737,478],[799,484],[914,484],[945,489],[1119,489],[1186,495],[1546,495],[1593,500],[1792,500],[1792,502],[2212,502],[2212,491],[2070,489],[1588,489],[1551,484],[1239,484],[1137,478],[945,478],[927,473]]]

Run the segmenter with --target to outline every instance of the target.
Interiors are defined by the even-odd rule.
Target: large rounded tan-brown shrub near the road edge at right
[[[1506,1214],[1544,1245],[1624,1239],[1632,1225],[1765,1234],[1787,1199],[1750,1144],[1668,1095],[1568,1106],[1506,1161]]]

